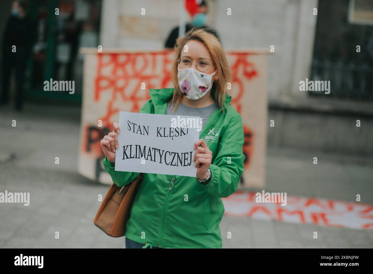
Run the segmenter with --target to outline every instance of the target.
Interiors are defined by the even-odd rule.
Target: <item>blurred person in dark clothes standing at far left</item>
[[[14,1],[3,37],[3,83],[0,104],[9,103],[9,84],[12,70],[16,71],[15,108],[21,110],[25,96],[25,72],[36,40],[36,26],[27,14],[27,1]],[[15,46],[15,47],[13,47]]]

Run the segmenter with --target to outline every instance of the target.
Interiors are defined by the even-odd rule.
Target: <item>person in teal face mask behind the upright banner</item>
[[[185,25],[185,33],[190,31],[192,28],[196,29],[205,29],[207,32],[215,35],[215,37],[219,40],[219,36],[217,35],[216,31],[214,31],[211,28],[208,28],[206,24],[207,20],[207,3],[205,0],[202,0],[201,3],[198,6],[197,13],[193,16],[193,19],[190,23],[187,23]],[[164,47],[165,48],[174,48],[176,44],[176,39],[179,37],[179,27],[172,29],[170,32]]]

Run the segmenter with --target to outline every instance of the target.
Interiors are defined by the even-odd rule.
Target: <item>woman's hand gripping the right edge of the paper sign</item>
[[[201,147],[200,147],[201,145]],[[195,161],[194,166],[197,167],[197,177],[201,180],[207,178],[207,170],[210,167],[212,160],[212,151],[207,147],[204,139],[199,139],[194,143],[193,149],[196,149],[193,161]]]

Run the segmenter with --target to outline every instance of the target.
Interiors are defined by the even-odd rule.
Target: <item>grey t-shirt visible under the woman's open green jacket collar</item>
[[[172,112],[171,110],[172,104],[171,101],[167,103],[167,109],[166,114],[167,115],[185,115],[185,116],[199,116],[202,119],[202,126],[201,130],[203,129],[204,125],[207,122],[207,119],[209,119],[210,115],[218,108],[216,102],[214,102],[211,105],[208,105],[207,107],[188,107],[184,105],[183,103],[179,103],[178,108],[176,108],[175,112]]]

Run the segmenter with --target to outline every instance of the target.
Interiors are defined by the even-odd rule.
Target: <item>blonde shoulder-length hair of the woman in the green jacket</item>
[[[178,107],[181,98],[184,96],[178,82],[178,59],[181,56],[181,51],[184,48],[185,44],[188,41],[196,40],[202,42],[209,53],[211,54],[212,63],[216,67],[216,75],[219,76],[217,82],[213,82],[211,87],[211,92],[215,90],[214,100],[219,105],[219,110],[225,112],[225,97],[227,92],[227,83],[231,82],[231,70],[229,69],[227,59],[220,44],[219,40],[215,35],[205,31],[204,29],[195,29],[192,28],[185,34],[185,37],[179,37],[176,39],[175,45],[175,62],[172,65],[171,69],[171,80],[172,84],[175,87],[175,91],[172,96],[172,105],[173,108]],[[174,111],[175,111],[174,110]]]

